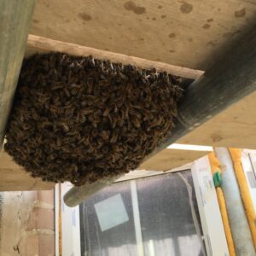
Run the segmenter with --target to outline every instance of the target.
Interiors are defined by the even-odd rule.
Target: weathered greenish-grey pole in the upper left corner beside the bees
[[[34,0],[0,1],[0,147],[32,20]]]

